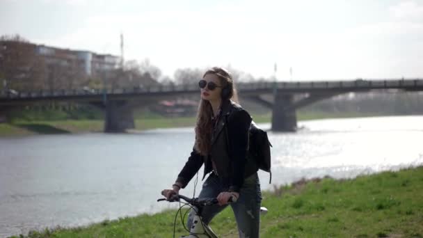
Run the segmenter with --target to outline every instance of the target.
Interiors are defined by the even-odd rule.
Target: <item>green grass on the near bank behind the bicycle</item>
[[[159,191],[158,191],[159,193]],[[301,180],[263,193],[261,237],[423,237],[423,167],[353,180]],[[173,210],[22,237],[172,237]],[[177,235],[185,234],[180,221]],[[230,208],[211,223],[238,237]],[[178,236],[177,236],[178,237]]]

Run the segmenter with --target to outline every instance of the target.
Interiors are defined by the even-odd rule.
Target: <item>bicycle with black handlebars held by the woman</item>
[[[186,203],[181,202],[180,201],[181,198],[182,198],[182,200],[185,200]],[[163,201],[163,200],[166,200],[166,198],[160,198],[160,199],[157,200],[157,202],[160,202],[160,201]],[[203,207],[217,204],[218,203],[217,198],[188,198],[186,196],[176,194],[175,196],[170,198],[170,200],[168,200],[168,201],[169,202],[179,201],[179,203],[184,203],[183,206],[179,205],[179,209],[176,212],[175,223],[174,223],[174,226],[173,226],[173,237],[175,237],[177,214],[179,212],[181,212],[182,224],[184,225],[185,230],[189,232],[189,235],[182,236],[182,237],[179,237],[179,238],[218,238],[218,236],[212,230],[212,228],[210,228],[209,225],[206,225],[205,223],[202,222],[202,217],[200,215]],[[232,198],[230,198],[228,200],[228,202],[232,203]],[[189,209],[188,209],[188,211],[185,212],[184,217],[182,218],[182,207],[184,207],[186,205],[188,205],[191,208],[193,208],[193,207],[197,208],[197,212],[195,212],[195,216],[193,217],[193,225],[191,226],[191,228],[189,230],[186,229],[185,224],[184,224],[185,216],[189,212]],[[260,215],[266,214],[266,213],[267,213],[266,207],[260,207]]]

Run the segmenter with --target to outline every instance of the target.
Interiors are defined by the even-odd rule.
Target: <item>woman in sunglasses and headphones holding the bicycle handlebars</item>
[[[161,194],[169,199],[179,193],[204,163],[203,180],[207,174],[209,177],[198,197],[217,198],[218,204],[202,210],[203,221],[208,224],[230,205],[237,220],[239,237],[259,237],[262,194],[257,165],[247,159],[251,117],[234,102],[237,101],[237,92],[228,71],[217,67],[207,70],[198,84],[201,100],[193,151],[173,189],[164,189]],[[234,203],[228,203],[231,197]],[[188,228],[194,214],[191,209]]]

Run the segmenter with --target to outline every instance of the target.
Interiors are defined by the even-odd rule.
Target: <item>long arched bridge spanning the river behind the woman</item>
[[[296,109],[335,95],[369,90],[423,91],[422,79],[350,80],[350,81],[260,81],[237,84],[239,95],[255,100],[272,110],[271,129],[294,132]],[[182,95],[198,95],[196,84],[122,88],[118,90],[57,90],[54,92],[10,92],[0,94],[0,114],[16,106],[65,101],[92,104],[105,113],[104,132],[125,132],[134,128],[133,109]],[[266,95],[268,97],[266,97]],[[269,95],[271,96],[269,98]]]

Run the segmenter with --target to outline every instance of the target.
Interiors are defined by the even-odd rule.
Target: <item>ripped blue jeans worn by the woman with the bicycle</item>
[[[202,190],[198,198],[216,198],[223,191],[223,186],[219,178],[210,173],[207,180],[202,184]],[[230,203],[238,225],[239,237],[257,238],[260,229],[260,206],[262,203],[262,192],[260,190],[260,180],[257,173],[246,177],[241,187],[239,198],[236,203]],[[228,205],[210,205],[202,209],[202,221],[209,224]],[[191,228],[195,211],[191,209],[188,216],[187,227]]]

